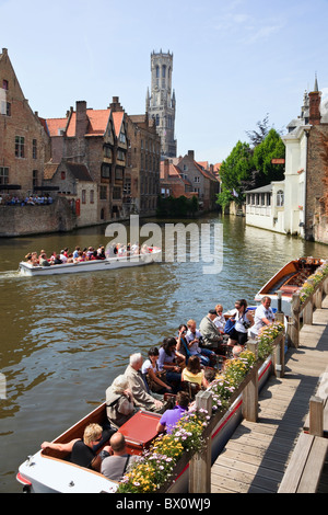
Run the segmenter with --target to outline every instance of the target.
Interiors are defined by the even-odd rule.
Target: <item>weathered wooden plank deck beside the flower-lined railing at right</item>
[[[284,377],[271,376],[261,390],[258,422],[243,421],[213,464],[212,493],[278,492],[327,365],[328,296],[302,328],[298,348],[289,348]],[[318,492],[328,492],[328,462]]]

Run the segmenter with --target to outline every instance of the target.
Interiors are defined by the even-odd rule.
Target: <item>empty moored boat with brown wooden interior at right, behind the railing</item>
[[[324,263],[315,258],[301,258],[286,263],[262,288],[257,293],[255,300],[262,297],[271,298],[271,308],[278,308],[278,291],[281,291],[281,310],[285,316],[291,314],[293,294],[298,291],[306,279]]]

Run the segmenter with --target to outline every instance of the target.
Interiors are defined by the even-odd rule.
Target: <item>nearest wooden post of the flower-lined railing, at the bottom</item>
[[[196,396],[196,408],[207,410],[208,414],[212,414],[212,396],[209,391],[200,391]],[[206,439],[204,447],[196,453],[189,466],[189,493],[211,493],[211,443],[209,435]]]

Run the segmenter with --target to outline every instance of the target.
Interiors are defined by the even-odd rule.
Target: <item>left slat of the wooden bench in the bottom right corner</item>
[[[280,483],[278,493],[296,492],[313,442],[314,436],[306,433],[301,433],[286,471]]]

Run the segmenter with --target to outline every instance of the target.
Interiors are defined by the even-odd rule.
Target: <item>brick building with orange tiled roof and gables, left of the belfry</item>
[[[79,101],[66,118],[46,122],[52,162],[84,164],[97,184],[96,220],[121,217],[128,138],[126,113],[118,98],[106,110],[87,108],[85,101]]]

